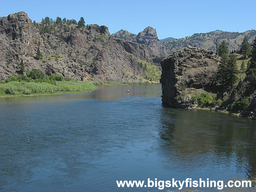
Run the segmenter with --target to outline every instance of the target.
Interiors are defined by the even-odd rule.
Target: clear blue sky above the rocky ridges
[[[244,32],[256,29],[256,0],[1,0],[0,17],[25,11],[37,22],[42,17],[84,17],[86,24],[125,29],[137,34],[147,26],[158,38],[183,38],[216,29]]]

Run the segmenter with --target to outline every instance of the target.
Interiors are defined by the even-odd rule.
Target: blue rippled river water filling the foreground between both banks
[[[255,120],[165,108],[160,96],[160,85],[116,85],[0,99],[0,191],[155,191],[116,180],[256,177]]]

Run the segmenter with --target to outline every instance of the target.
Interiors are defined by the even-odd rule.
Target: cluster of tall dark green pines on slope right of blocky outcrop
[[[243,58],[250,57],[245,67],[243,61],[240,66],[240,71],[237,65],[237,56],[233,53],[229,54],[226,41],[222,41],[218,47],[218,55],[221,61],[218,64],[217,79],[223,90],[232,90],[236,81],[240,81],[241,97],[248,96],[256,88],[256,38],[253,44],[249,44],[247,37],[241,44],[239,51]],[[241,73],[245,72],[244,81],[241,79]]]

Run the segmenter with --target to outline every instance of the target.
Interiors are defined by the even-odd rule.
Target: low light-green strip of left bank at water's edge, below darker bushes
[[[11,81],[0,84],[0,98],[15,96],[56,95],[64,93],[85,93],[93,91],[96,86],[93,82],[84,81],[55,81],[46,82]]]

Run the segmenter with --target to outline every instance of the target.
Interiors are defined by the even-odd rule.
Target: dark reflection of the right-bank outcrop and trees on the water
[[[221,113],[163,108],[160,145],[167,160],[180,168],[256,177],[256,128],[254,121]],[[168,153],[166,153],[168,151]]]

